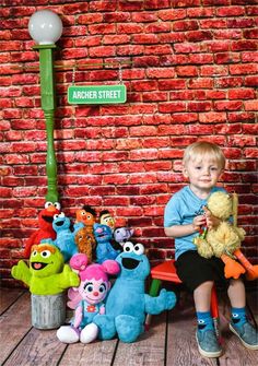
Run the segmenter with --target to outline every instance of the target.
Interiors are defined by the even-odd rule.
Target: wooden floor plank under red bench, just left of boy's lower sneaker
[[[176,307],[169,311],[167,329],[168,366],[215,366],[218,358],[200,355],[196,341],[196,315],[194,307]]]

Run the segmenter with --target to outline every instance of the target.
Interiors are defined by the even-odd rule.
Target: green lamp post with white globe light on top
[[[57,202],[57,161],[54,146],[54,118],[56,110],[56,94],[54,79],[54,50],[62,34],[60,17],[50,10],[39,10],[28,22],[28,32],[36,42],[34,49],[39,51],[42,108],[46,119],[47,130],[47,194],[46,201]]]

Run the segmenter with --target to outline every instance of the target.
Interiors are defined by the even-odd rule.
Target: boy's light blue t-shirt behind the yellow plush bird
[[[216,191],[225,192],[225,189],[213,187],[210,194]],[[165,206],[164,227],[191,224],[195,216],[203,214],[202,206],[207,205],[208,198],[201,200],[191,191],[189,186],[180,189],[171,198]],[[187,250],[197,250],[192,240],[198,235],[199,233],[196,232],[187,236],[175,238],[175,259]]]

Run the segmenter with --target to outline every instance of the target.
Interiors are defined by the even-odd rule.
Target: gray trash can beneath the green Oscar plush
[[[33,295],[32,324],[37,329],[57,329],[66,321],[66,293]]]

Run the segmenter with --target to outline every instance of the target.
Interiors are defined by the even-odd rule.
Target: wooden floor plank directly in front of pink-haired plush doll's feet
[[[117,340],[70,344],[58,366],[109,366],[116,345]]]

